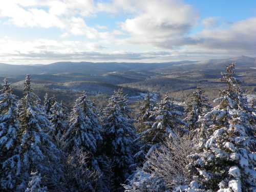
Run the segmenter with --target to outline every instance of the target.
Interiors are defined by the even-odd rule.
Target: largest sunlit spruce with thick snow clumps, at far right
[[[234,64],[227,67],[222,81],[227,89],[220,91],[214,109],[204,115],[206,142],[191,155],[189,165],[194,183],[209,191],[254,191],[255,116],[234,77]]]

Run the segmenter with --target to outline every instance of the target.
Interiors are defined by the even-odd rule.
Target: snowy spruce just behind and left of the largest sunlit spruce
[[[198,119],[204,113],[211,109],[208,98],[204,95],[204,91],[200,86],[191,95],[191,99],[187,102],[185,119],[188,123],[189,131],[195,131],[198,127]]]

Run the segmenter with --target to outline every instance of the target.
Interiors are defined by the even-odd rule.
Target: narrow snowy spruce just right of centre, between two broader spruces
[[[139,108],[139,113],[137,116],[137,129],[138,132],[143,132],[149,129],[153,125],[154,116],[153,114],[154,103],[152,102],[152,97],[150,93],[147,93],[144,97],[141,106]]]

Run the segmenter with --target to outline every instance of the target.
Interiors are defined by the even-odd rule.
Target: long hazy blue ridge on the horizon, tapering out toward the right
[[[49,65],[8,65],[0,63],[0,76],[25,74],[105,74],[110,72],[125,72],[127,70],[151,71],[157,68],[169,67],[178,63],[195,61],[179,61],[164,63],[129,63],[129,62],[55,62]]]

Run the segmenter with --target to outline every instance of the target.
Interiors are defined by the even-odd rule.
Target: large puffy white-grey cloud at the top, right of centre
[[[121,40],[124,44],[147,44],[164,49],[166,41],[172,43],[171,46],[181,44],[178,41],[183,40],[199,18],[193,7],[177,0],[115,0],[97,6],[114,14],[118,11],[131,13],[130,18],[120,24],[130,35]]]

